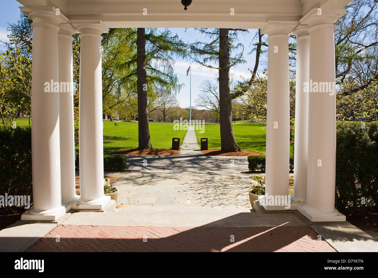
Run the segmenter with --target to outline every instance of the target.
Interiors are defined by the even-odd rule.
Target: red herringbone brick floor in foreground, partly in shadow
[[[308,226],[58,225],[26,252],[336,252],[317,239]]]

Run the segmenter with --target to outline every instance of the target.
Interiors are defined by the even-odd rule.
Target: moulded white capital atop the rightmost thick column
[[[313,8],[299,22],[310,27],[321,24],[333,24],[340,17],[344,16],[346,9]]]

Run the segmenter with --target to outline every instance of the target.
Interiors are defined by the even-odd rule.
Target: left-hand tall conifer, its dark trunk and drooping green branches
[[[187,45],[168,29],[158,31],[156,28],[138,28],[129,37],[130,43],[136,44],[137,51],[119,66],[129,70],[129,74],[124,76],[125,82],[137,76],[138,149],[152,149],[147,96],[156,98],[159,89],[171,93],[180,91],[183,84],[178,83],[174,73],[174,57],[185,57]]]

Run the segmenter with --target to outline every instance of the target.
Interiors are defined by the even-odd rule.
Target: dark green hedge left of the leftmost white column
[[[0,126],[0,195],[32,195],[31,128]]]

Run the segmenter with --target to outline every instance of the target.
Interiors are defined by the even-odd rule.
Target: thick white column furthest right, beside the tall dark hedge
[[[338,17],[313,16],[310,25],[307,204],[298,210],[313,222],[345,221],[335,208],[335,25]],[[318,89],[316,89],[318,86]],[[328,88],[327,88],[328,87]]]

